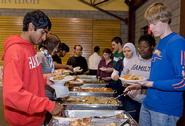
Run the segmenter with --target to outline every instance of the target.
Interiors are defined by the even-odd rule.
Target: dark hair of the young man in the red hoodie
[[[39,28],[48,30],[51,29],[51,21],[49,17],[42,12],[41,10],[35,10],[28,12],[23,19],[23,31],[28,31],[29,23],[32,23],[35,26],[35,30]]]

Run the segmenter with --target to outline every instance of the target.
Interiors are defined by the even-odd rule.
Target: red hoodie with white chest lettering
[[[41,126],[55,103],[45,97],[45,81],[33,44],[20,36],[5,41],[3,102],[10,126]]]

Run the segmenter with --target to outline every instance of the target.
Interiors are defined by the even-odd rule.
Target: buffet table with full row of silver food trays
[[[53,117],[49,126],[137,126],[129,113],[120,110],[114,91],[95,76],[80,75],[83,84],[66,83],[69,96],[61,98],[66,106],[61,116]]]

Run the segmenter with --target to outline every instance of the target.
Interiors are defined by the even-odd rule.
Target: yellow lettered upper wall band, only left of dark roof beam
[[[73,4],[71,4],[73,3]],[[15,8],[15,9],[70,9],[78,8],[90,9],[93,8],[84,5],[78,0],[0,0],[0,8]]]

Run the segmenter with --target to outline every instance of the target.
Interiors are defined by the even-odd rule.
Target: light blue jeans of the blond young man
[[[141,106],[139,126],[176,126],[178,120],[177,116],[154,112]]]

